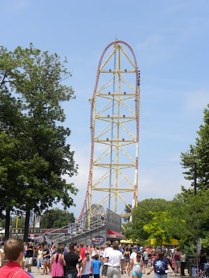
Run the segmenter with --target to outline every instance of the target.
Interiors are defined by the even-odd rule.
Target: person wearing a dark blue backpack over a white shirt
[[[168,259],[163,256],[162,252],[157,252],[157,259],[154,260],[153,266],[147,272],[147,275],[150,275],[150,272],[154,270],[155,278],[167,278],[167,269],[172,272]]]

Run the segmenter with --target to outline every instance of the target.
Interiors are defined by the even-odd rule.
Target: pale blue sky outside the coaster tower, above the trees
[[[189,186],[180,153],[195,143],[209,103],[207,0],[1,0],[0,45],[56,52],[68,58],[75,100],[63,104],[68,142],[79,174],[71,207],[84,202],[91,152],[90,104],[102,51],[115,38],[130,44],[141,71],[139,201],[173,199]],[[118,208],[118,213],[124,206]]]

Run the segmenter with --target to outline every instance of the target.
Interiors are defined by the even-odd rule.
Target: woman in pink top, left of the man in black
[[[65,264],[63,248],[56,247],[56,254],[52,255],[52,259],[50,261],[51,265],[51,277],[63,277],[64,275],[64,268],[63,265]]]

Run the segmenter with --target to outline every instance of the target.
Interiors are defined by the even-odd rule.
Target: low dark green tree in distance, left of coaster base
[[[60,228],[74,222],[75,217],[73,213],[59,208],[49,209],[49,211],[46,211],[40,217],[40,227],[44,229]]]

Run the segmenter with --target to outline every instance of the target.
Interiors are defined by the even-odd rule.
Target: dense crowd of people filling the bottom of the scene
[[[2,267],[3,259],[8,263]],[[1,243],[0,277],[33,277],[31,265],[37,266],[40,275],[50,273],[51,277],[66,278],[120,278],[127,273],[132,278],[142,277],[148,265],[154,270],[155,278],[167,278],[167,273],[173,268],[177,275],[185,276],[186,255],[184,250],[176,247],[141,247],[141,245],[119,245],[118,241],[107,241],[106,246],[70,243],[66,245],[51,245],[40,243],[34,246],[30,241],[23,243],[19,238],[13,238]],[[199,255],[201,269],[206,263],[206,254]]]

